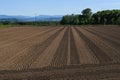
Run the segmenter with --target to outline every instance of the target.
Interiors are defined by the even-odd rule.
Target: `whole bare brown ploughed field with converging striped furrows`
[[[1,28],[0,80],[120,80],[120,27]]]

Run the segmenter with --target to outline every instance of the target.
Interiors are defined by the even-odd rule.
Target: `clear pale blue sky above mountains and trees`
[[[80,14],[85,8],[120,9],[120,0],[0,0],[0,15]]]

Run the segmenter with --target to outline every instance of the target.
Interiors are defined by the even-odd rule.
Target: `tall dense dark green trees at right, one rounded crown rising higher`
[[[86,8],[81,13],[78,15],[65,15],[60,23],[64,25],[120,25],[120,10],[103,10],[92,13],[90,8]]]

